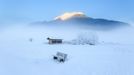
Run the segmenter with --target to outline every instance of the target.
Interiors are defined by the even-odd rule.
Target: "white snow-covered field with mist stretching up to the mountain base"
[[[134,75],[133,28],[92,31],[99,38],[95,46],[46,44],[47,37],[70,41],[88,31],[27,26],[1,30],[0,75]],[[65,63],[53,61],[57,51],[68,54]]]

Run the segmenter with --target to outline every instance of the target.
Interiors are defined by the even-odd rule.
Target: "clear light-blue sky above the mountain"
[[[89,17],[134,21],[134,0],[0,0],[0,22],[52,20],[64,12]]]

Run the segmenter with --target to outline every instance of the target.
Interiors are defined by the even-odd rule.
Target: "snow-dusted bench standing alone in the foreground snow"
[[[57,60],[58,62],[65,62],[65,60],[67,59],[67,54],[57,52],[57,54],[53,56],[53,59]]]

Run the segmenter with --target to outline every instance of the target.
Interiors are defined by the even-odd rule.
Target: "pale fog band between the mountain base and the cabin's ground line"
[[[92,32],[98,35],[99,41],[106,43],[133,44],[134,27],[118,28],[110,31],[90,30],[79,27],[51,27],[51,26],[31,26],[26,24],[12,25],[0,30],[0,41],[28,40],[33,38],[36,41],[44,42],[47,37],[63,38],[72,40],[80,33]]]

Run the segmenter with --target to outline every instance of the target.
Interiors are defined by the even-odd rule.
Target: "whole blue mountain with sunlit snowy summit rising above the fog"
[[[71,13],[64,13],[60,16],[57,16],[54,20],[46,22],[36,22],[34,24],[41,24],[41,25],[49,25],[49,26],[78,26],[82,28],[89,28],[89,29],[114,29],[123,26],[129,26],[128,23],[114,21],[114,20],[107,20],[101,18],[91,18],[86,16],[82,12],[71,12]]]

